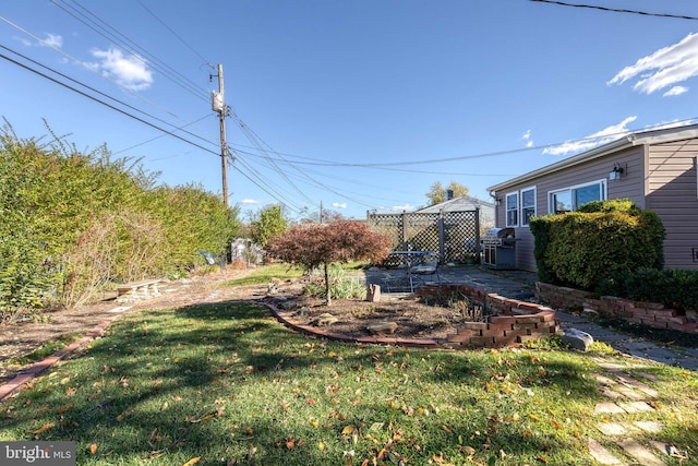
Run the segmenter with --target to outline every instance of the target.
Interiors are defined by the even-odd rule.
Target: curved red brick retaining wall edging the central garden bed
[[[480,288],[467,285],[429,285],[416,292],[420,296],[461,292],[496,314],[490,316],[488,322],[467,322],[458,333],[448,336],[452,347],[518,346],[530,339],[554,335],[559,330],[554,309],[488,294]]]

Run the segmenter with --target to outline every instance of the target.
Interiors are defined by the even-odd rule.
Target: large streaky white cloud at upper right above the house
[[[661,48],[625,67],[606,84],[623,84],[638,76],[635,91],[652,94],[698,75],[698,33],[689,34],[677,44]],[[685,92],[686,88],[683,91]],[[671,91],[664,95],[671,94]]]

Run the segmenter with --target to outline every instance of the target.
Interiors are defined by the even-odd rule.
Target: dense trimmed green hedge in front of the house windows
[[[592,202],[576,212],[531,218],[543,282],[593,290],[603,280],[664,264],[659,216],[628,200]]]

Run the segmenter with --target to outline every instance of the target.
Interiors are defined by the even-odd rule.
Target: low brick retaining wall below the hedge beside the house
[[[618,318],[657,328],[698,334],[696,311],[682,314],[675,309],[666,308],[657,302],[633,301],[613,296],[598,298],[589,291],[540,282],[535,284],[535,295],[541,301],[558,309],[592,311],[600,315]]]

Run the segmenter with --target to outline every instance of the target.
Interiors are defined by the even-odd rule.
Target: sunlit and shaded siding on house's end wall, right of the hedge
[[[648,154],[647,208],[666,229],[664,263],[698,270],[698,141],[651,146]]]

